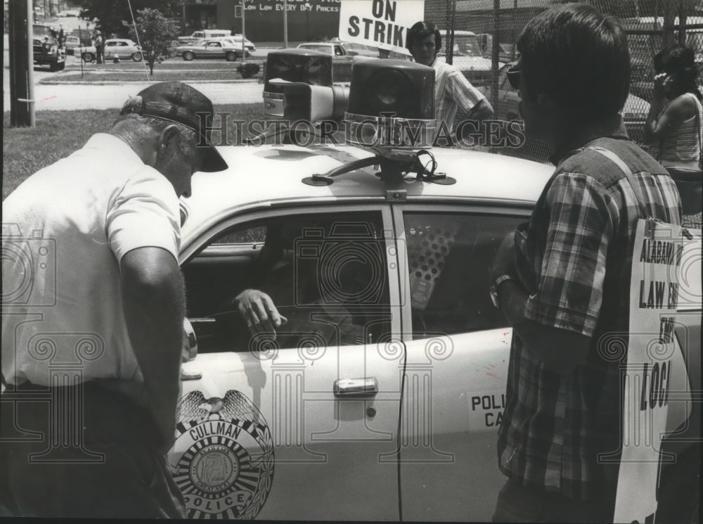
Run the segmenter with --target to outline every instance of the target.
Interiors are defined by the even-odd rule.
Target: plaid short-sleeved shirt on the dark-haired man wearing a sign
[[[681,223],[676,185],[626,140],[621,122],[584,138],[575,145],[610,149],[631,168],[652,217]],[[614,497],[617,463],[599,466],[598,454],[619,450],[620,363],[605,358],[604,348],[613,333],[628,331],[638,215],[623,172],[595,151],[562,155],[532,213],[517,255],[531,295],[525,316],[581,333],[591,347],[584,364],[560,376],[512,338],[498,459],[501,471],[524,485],[574,499]]]

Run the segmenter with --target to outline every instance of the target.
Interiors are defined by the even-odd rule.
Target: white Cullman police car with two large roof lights
[[[188,516],[489,520],[512,336],[489,266],[552,169],[408,146],[432,123],[429,68],[360,62],[342,93],[330,57],[272,53],[266,113],[344,103],[356,145],[219,148],[228,170],[182,201],[189,356],[168,459]],[[240,318],[247,288],[288,319],[275,335]],[[699,337],[682,343],[699,358]]]

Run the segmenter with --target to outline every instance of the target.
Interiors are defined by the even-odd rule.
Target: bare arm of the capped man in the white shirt
[[[173,445],[185,298],[178,262],[162,248],[136,248],[122,257],[122,296],[129,339],[141,368],[146,406],[164,449]]]

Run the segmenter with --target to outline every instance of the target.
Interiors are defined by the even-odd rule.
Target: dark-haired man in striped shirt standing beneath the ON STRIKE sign
[[[420,21],[413,24],[408,30],[406,45],[415,62],[434,68],[434,117],[438,134],[446,136],[451,132],[459,108],[473,120],[493,117],[493,107],[484,94],[473,87],[460,70],[437,60],[441,34],[433,23]],[[442,123],[446,126],[444,129],[440,128]]]

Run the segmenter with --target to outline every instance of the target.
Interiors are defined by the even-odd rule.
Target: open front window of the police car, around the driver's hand
[[[233,299],[266,293],[288,322],[278,347],[356,345],[389,333],[390,305],[380,212],[309,213],[226,229],[183,265],[188,317],[214,320],[204,352],[247,350],[252,336]],[[270,333],[269,333],[270,340]]]

